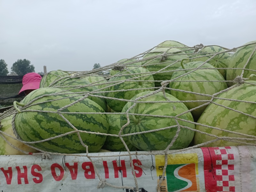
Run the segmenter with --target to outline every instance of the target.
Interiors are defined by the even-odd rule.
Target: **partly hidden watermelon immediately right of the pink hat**
[[[64,76],[68,76],[68,73],[62,70],[50,71],[46,73],[41,81],[40,81],[40,88],[48,87],[51,85],[55,80],[58,80]]]

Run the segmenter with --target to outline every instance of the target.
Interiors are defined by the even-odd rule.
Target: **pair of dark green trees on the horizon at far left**
[[[12,64],[10,75],[23,76],[27,73],[35,72],[35,67],[27,59],[18,59]],[[0,76],[7,76],[9,74],[7,63],[5,60],[0,60]]]

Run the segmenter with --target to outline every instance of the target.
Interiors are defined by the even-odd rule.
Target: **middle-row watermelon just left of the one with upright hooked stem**
[[[116,75],[120,76],[113,76],[108,80],[108,86],[106,91],[117,91],[117,92],[105,92],[106,97],[110,98],[117,98],[117,99],[126,99],[129,100],[133,96],[137,95],[140,92],[154,90],[154,78],[151,74],[144,74],[140,75],[140,73],[149,73],[149,71],[142,67],[124,67],[124,69],[118,72]],[[145,76],[147,75],[147,76]],[[134,78],[137,77],[137,78]],[[125,81],[130,78],[134,78],[134,81]],[[140,80],[138,82],[138,80]],[[123,81],[122,83],[116,84],[116,81]],[[147,88],[147,89],[141,89]],[[129,89],[136,89],[136,90],[129,90]],[[128,91],[124,91],[128,90]],[[120,112],[122,111],[126,101],[121,100],[114,100],[114,99],[107,99],[108,106],[113,109],[114,111]]]

